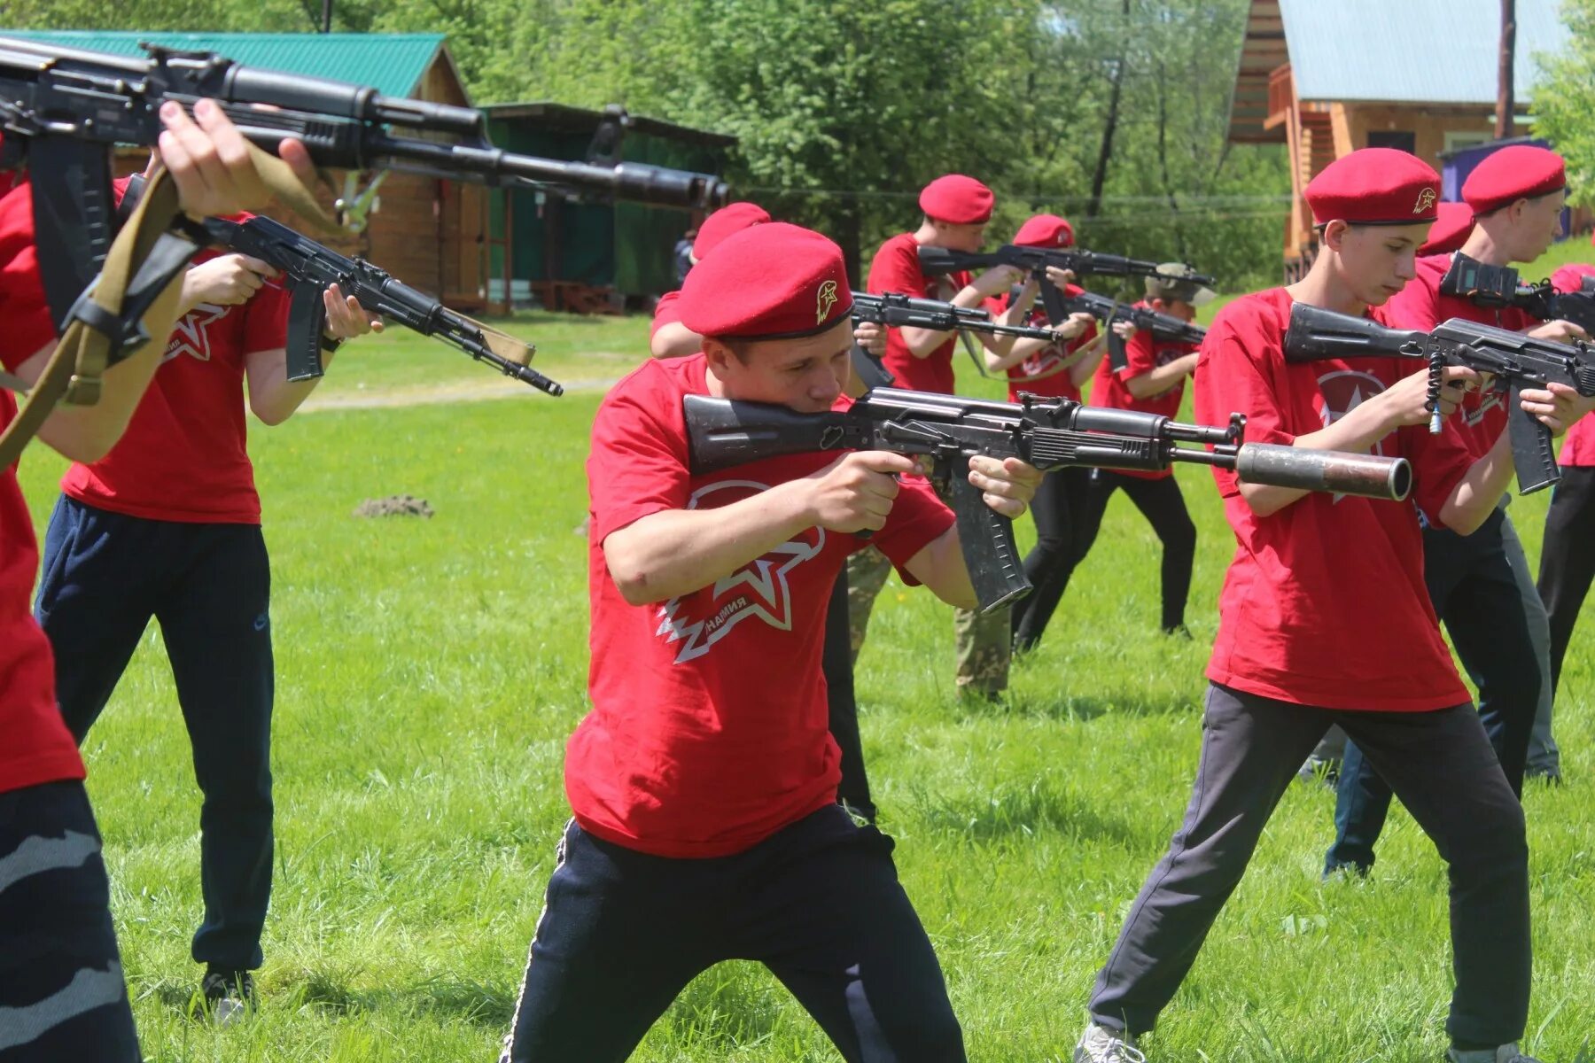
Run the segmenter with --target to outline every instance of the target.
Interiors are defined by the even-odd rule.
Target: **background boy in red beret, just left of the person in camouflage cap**
[[[1021,247],[1073,247],[1075,229],[1056,214],[1037,214],[1019,226],[1013,242]],[[1067,269],[1048,268],[1048,280],[1065,296],[1080,295],[1085,288],[1073,284]],[[1027,308],[1029,324],[1048,325],[1042,309],[1040,290],[1035,280],[1027,280],[1018,292],[992,301],[992,312],[1003,314],[1014,303]],[[986,368],[1008,375],[1008,400],[1019,402],[1021,392],[1048,398],[1072,398],[1080,402],[1080,386],[1091,379],[1104,346],[1091,314],[1070,314],[1059,327],[1065,339],[1014,339],[1002,351],[986,351]],[[1035,547],[1024,555],[1024,574],[1035,586],[1010,609],[1010,637],[1014,650],[1034,649],[1042,630],[1051,620],[1062,586],[1056,575],[1070,566],[1078,542],[1080,512],[1085,505],[1086,481],[1091,475],[1085,467],[1054,469],[1042,480],[1030,504],[1035,518]],[[1067,577],[1065,577],[1067,579]]]

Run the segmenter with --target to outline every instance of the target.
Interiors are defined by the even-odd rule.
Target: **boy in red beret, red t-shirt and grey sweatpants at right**
[[[1451,1063],[1525,1063],[1528,845],[1523,810],[1456,676],[1423,582],[1418,507],[1456,531],[1479,528],[1512,477],[1502,438],[1475,457],[1428,432],[1428,375],[1407,362],[1286,363],[1295,301],[1348,314],[1412,279],[1440,186],[1415,156],[1365,148],[1306,188],[1321,247],[1289,288],[1219,314],[1196,367],[1196,419],[1247,414],[1247,440],[1367,451],[1412,461],[1413,502],[1308,496],[1214,470],[1236,551],[1207,665],[1201,765],[1185,822],[1148,875],[1093,993],[1077,1063],[1139,1060],[1239,883],[1297,767],[1340,724],[1391,781],[1450,865],[1456,991]],[[1477,375],[1450,368],[1450,414]],[[1554,429],[1584,403],[1573,389],[1528,390]],[[1373,991],[1373,987],[1370,987]]]

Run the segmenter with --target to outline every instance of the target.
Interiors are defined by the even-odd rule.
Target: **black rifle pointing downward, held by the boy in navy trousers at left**
[[[565,394],[563,387],[528,365],[536,347],[456,314],[364,258],[345,258],[330,247],[265,217],[247,222],[206,218],[204,226],[217,244],[254,255],[282,271],[282,280],[289,288],[290,381],[311,379],[324,371],[321,344],[327,306],[321,301],[321,293],[329,284],[337,284],[345,295],[352,295],[373,314],[389,317],[423,336],[437,336],[472,359],[498,368],[504,376],[550,395]]]

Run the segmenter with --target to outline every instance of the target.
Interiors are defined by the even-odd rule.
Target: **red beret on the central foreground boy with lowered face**
[[[681,324],[716,339],[796,339],[853,309],[842,249],[785,222],[732,234],[681,285]]]

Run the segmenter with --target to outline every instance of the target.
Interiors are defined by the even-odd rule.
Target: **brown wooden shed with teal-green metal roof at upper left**
[[[370,84],[384,96],[471,107],[471,94],[448,54],[442,33],[121,33],[59,30],[13,33],[72,48],[142,54],[140,41],[167,48],[214,51],[241,64]],[[145,155],[126,151],[121,172],[144,167]],[[486,190],[415,174],[388,174],[378,188],[380,207],[364,233],[325,239],[360,255],[450,306],[477,309],[485,301]],[[332,194],[324,196],[332,207]],[[273,210],[295,225],[289,210]]]

